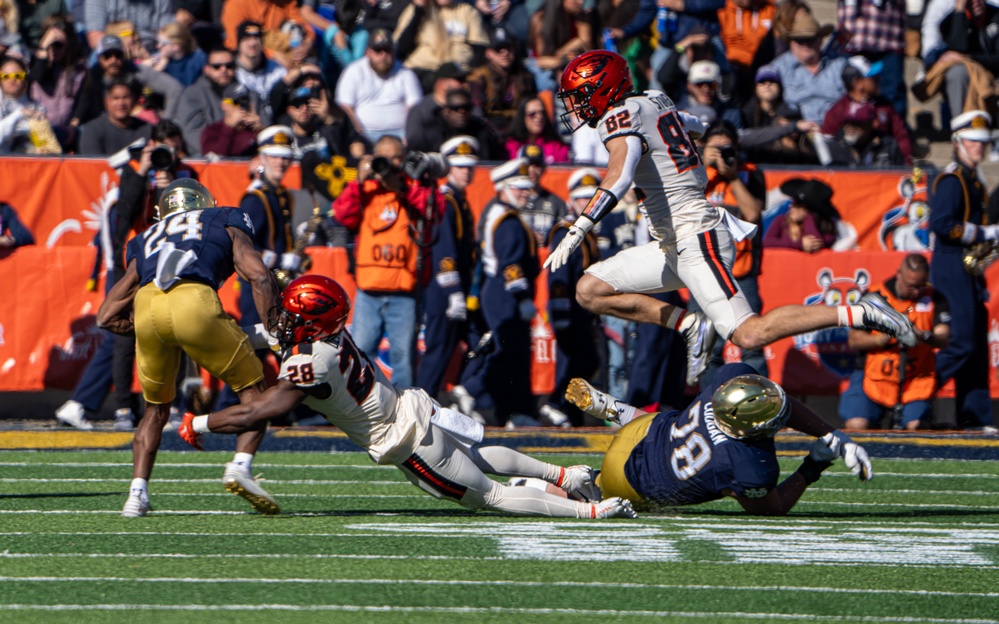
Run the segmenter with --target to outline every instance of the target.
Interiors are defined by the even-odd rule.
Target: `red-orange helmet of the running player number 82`
[[[584,124],[596,128],[604,113],[634,90],[624,57],[606,50],[581,54],[562,73],[557,95],[566,112],[559,119],[569,132]]]

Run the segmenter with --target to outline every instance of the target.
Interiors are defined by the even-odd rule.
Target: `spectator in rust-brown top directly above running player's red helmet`
[[[599,47],[595,18],[583,0],[545,0],[542,9],[531,16],[527,67],[538,91],[555,91],[569,61]]]

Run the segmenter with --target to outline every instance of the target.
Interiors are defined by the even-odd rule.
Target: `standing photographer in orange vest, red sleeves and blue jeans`
[[[437,180],[448,168],[440,154],[407,156],[402,141],[383,136],[333,203],[337,220],[356,233],[351,334],[372,354],[388,334],[392,382],[400,388],[413,384],[417,302],[430,280],[429,246],[444,212]]]

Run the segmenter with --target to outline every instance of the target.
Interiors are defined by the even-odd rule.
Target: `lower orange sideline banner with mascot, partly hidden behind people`
[[[339,281],[353,297],[356,287],[344,251],[310,248],[308,252],[313,270]],[[861,290],[894,275],[902,257],[890,252],[768,251],[760,280],[764,309],[855,301]],[[93,252],[86,247],[25,247],[0,258],[0,282],[8,286],[7,296],[0,298],[0,392],[76,385],[100,337],[94,315],[103,299],[103,284],[95,293],[84,288],[92,262]],[[999,264],[987,278],[990,291],[999,290]],[[225,309],[237,314],[236,281],[226,282],[219,294]],[[554,335],[543,312],[547,298],[542,273],[535,299],[542,312],[532,324],[531,376],[536,394],[551,392],[555,381]],[[999,398],[999,298],[989,303],[988,343],[991,391]],[[765,354],[770,376],[800,395],[839,394],[853,361],[845,329],[785,338],[768,346]],[[737,347],[726,346],[726,360],[738,361],[739,356]],[[945,386],[941,396],[953,396],[953,384]]]

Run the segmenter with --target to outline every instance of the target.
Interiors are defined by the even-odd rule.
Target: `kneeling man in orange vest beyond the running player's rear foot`
[[[919,342],[908,349],[884,334],[850,330],[850,349],[860,355],[839,401],[844,429],[877,429],[885,410],[897,414],[892,425],[898,428],[929,423],[937,389],[934,350],[950,343],[950,308],[929,278],[926,258],[909,254],[894,277],[872,289],[908,317]]]

